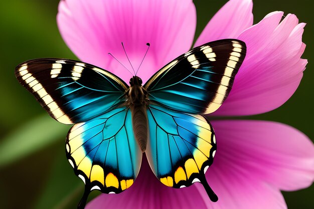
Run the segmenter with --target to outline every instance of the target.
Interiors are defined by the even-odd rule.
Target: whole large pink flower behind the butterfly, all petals
[[[305,24],[291,14],[281,21],[282,16],[274,12],[252,26],[252,1],[230,0],[208,23],[195,46],[224,38],[247,45],[232,91],[213,115],[264,113],[294,93],[307,63],[300,59]],[[125,81],[130,74],[108,53],[127,64],[123,42],[133,66],[138,66],[149,42],[137,74],[145,82],[191,48],[196,10],[192,0],[66,0],[59,5],[58,26],[78,58]],[[280,190],[313,182],[314,146],[300,131],[267,121],[211,122],[218,150],[206,177],[218,202],[211,202],[199,184],[182,189],[163,185],[144,159],[133,186],[118,195],[102,194],[86,208],[286,208]]]

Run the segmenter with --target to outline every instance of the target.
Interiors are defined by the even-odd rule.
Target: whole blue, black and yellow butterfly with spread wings
[[[15,73],[51,117],[74,124],[66,156],[85,183],[79,209],[94,189],[129,188],[143,152],[163,184],[181,188],[200,182],[217,201],[205,178],[216,138],[202,115],[227,98],[245,55],[240,40],[210,42],[179,56],[144,85],[136,75],[129,86],[104,69],[65,59],[30,60]]]

